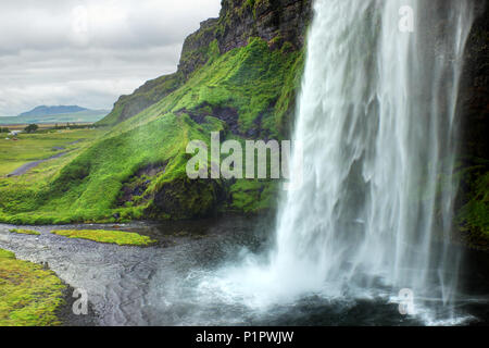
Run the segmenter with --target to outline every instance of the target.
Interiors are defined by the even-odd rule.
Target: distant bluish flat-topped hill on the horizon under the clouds
[[[102,120],[109,110],[89,110],[78,105],[37,107],[14,117],[0,117],[1,125],[95,123]]]

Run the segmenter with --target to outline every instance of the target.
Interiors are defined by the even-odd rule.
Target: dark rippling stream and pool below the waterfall
[[[20,226],[23,227],[23,226]],[[223,268],[269,247],[271,225],[263,219],[226,216],[188,222],[122,225],[25,226],[40,236],[9,234],[0,224],[0,248],[22,260],[48,262],[64,282],[88,293],[98,325],[431,325],[489,323],[489,254],[466,252],[461,278],[466,294],[456,303],[456,322],[429,322],[402,315],[378,291],[364,298],[303,294],[268,306],[249,303],[210,284]],[[120,247],[68,239],[60,228],[137,232],[159,243]]]

